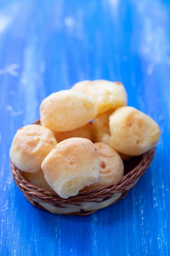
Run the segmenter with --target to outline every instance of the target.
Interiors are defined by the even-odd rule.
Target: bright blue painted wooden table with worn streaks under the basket
[[[125,199],[86,217],[53,215],[17,188],[8,151],[42,99],[83,79],[122,81],[161,139]],[[170,1],[0,1],[0,255],[170,255],[169,150]]]

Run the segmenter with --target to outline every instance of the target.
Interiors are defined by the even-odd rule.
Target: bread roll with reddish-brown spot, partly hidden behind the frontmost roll
[[[86,186],[84,190],[95,189],[115,183],[123,177],[124,164],[119,154],[109,145],[94,143],[100,156],[100,173],[98,180]]]

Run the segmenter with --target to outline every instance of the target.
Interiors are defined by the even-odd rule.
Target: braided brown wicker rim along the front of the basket
[[[37,119],[34,124],[40,123],[40,119]],[[70,198],[61,198],[57,193],[51,192],[45,189],[40,189],[37,186],[32,185],[22,176],[22,171],[18,169],[10,160],[11,172],[15,183],[19,189],[24,193],[26,198],[34,198],[38,201],[42,201],[50,204],[82,204],[85,202],[99,202],[99,199],[108,198],[115,193],[125,192],[129,190],[133,183],[135,183],[144,174],[155,155],[156,148],[147,151],[142,154],[142,159],[134,169],[124,175],[116,183],[108,186],[98,187],[95,189],[88,189],[83,192],[79,192],[78,195]],[[130,187],[130,188],[129,188]],[[129,188],[129,189],[128,189]]]

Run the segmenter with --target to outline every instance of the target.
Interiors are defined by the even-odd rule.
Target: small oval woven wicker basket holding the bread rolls
[[[39,120],[35,122],[40,124]],[[124,198],[144,174],[155,155],[155,148],[142,156],[125,161],[125,175],[116,183],[96,189],[79,192],[68,199],[61,198],[55,192],[40,189],[32,185],[22,176],[22,171],[10,161],[14,181],[28,201],[35,207],[53,213],[69,215],[88,215],[98,209],[105,208]]]

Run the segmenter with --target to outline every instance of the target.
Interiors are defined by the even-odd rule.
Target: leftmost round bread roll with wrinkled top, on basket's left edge
[[[41,125],[21,127],[10,148],[12,163],[24,172],[39,172],[44,158],[57,144],[52,131]]]

